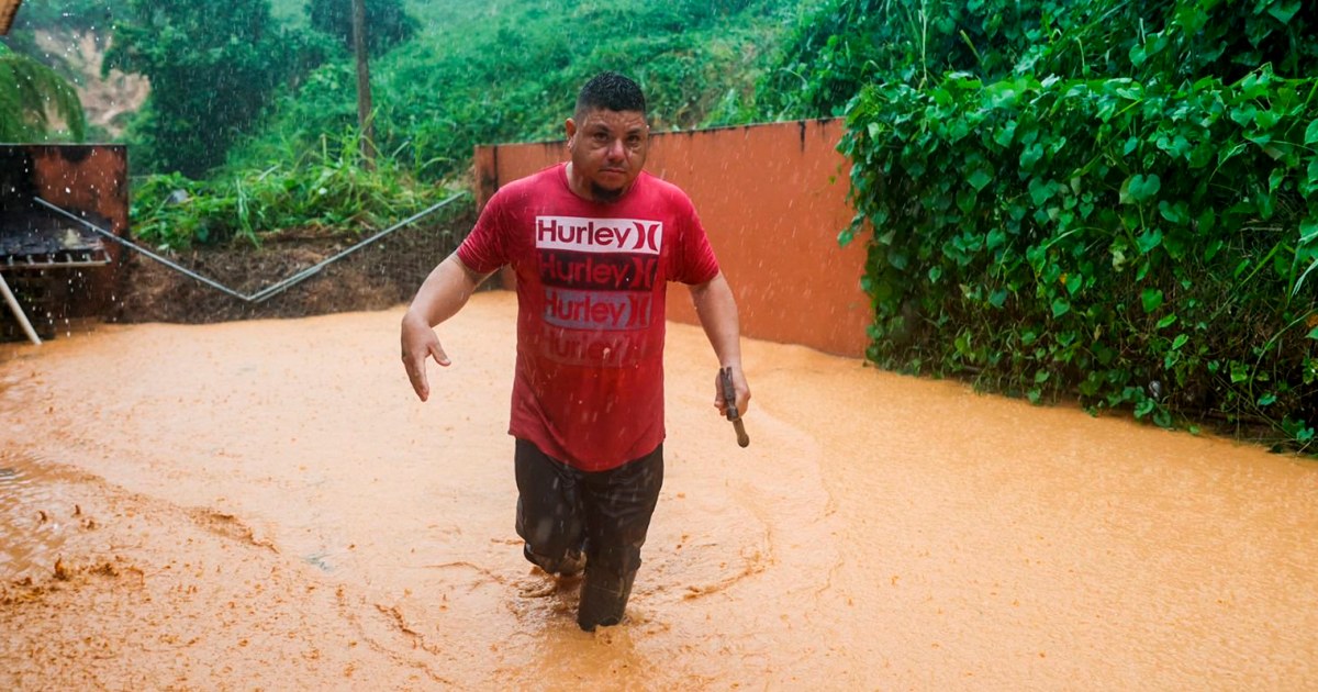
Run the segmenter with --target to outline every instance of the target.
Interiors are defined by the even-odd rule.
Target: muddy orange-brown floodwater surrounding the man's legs
[[[1314,689],[1318,464],[696,327],[629,618],[523,562],[515,299],[0,345],[0,688]]]

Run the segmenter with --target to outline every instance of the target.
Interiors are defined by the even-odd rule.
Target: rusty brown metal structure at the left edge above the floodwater
[[[127,149],[0,145],[0,340],[40,343],[113,304],[121,249],[41,199],[127,236]]]

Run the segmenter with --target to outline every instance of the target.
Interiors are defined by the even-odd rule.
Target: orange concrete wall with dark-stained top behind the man
[[[841,136],[840,120],[656,133],[646,170],[695,202],[745,336],[861,357],[873,311],[861,290],[863,240],[837,243],[853,216]],[[478,146],[477,203],[565,159],[561,141]],[[685,287],[670,287],[668,318],[697,323]]]

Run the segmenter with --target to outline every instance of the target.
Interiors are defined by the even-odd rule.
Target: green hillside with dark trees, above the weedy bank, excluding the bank
[[[4,42],[59,71],[37,30],[112,30],[107,69],[141,72],[156,87],[124,136],[134,167],[202,178],[225,161],[265,167],[357,127],[352,55],[308,20],[314,5],[343,14],[347,3],[28,0]],[[423,179],[443,179],[467,166],[476,144],[559,136],[576,88],[604,69],[642,83],[656,128],[754,120],[755,86],[776,46],[820,4],[370,3],[368,14],[406,9],[413,26],[374,17],[368,28],[384,43],[370,65],[378,148]]]

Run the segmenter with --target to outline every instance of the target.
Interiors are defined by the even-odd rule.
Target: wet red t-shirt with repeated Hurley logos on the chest
[[[477,273],[517,273],[509,434],[584,471],[663,442],[667,282],[718,274],[681,190],[642,173],[600,204],[573,194],[559,163],[500,188],[457,256]]]

